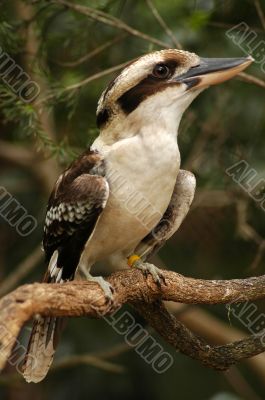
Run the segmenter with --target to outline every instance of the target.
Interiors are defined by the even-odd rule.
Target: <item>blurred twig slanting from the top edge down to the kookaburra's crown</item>
[[[74,4],[67,0],[52,0],[52,2],[55,4],[62,4],[68,7],[69,9],[77,11],[80,14],[84,14],[95,21],[101,22],[105,25],[112,26],[113,28],[116,29],[123,30],[124,32],[127,32],[130,35],[139,37],[143,40],[146,40],[149,43],[156,44],[160,47],[166,47],[166,48],[170,47],[167,43],[162,42],[161,40],[158,40],[152,36],[149,36],[146,33],[140,32],[137,29],[127,25],[122,20],[115,18],[112,15],[109,15],[103,11],[96,10],[95,8],[81,6],[79,4]]]

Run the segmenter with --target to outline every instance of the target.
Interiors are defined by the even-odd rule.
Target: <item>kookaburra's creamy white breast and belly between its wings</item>
[[[99,149],[102,150],[102,149]],[[88,264],[130,254],[162,218],[179,171],[176,138],[136,135],[104,154],[110,197],[83,257]]]

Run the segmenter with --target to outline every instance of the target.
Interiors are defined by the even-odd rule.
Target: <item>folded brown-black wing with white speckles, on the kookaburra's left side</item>
[[[48,202],[43,247],[50,262],[57,250],[57,268],[71,279],[85,243],[106,205],[109,186],[103,157],[87,150],[59,177]],[[46,277],[46,280],[48,277]]]

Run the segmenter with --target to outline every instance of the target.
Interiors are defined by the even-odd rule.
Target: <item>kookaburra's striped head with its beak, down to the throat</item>
[[[102,93],[97,109],[101,134],[113,142],[154,124],[176,132],[183,112],[202,90],[234,77],[252,61],[201,58],[176,49],[140,57]]]

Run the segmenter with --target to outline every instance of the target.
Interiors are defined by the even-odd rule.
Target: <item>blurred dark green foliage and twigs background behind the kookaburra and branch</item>
[[[0,46],[40,87],[36,99],[26,103],[0,79],[1,187],[37,220],[36,228],[21,236],[0,217],[0,295],[42,279],[41,240],[49,192],[60,171],[98,134],[99,95],[120,64],[163,47],[204,57],[252,53],[258,62],[247,74],[204,92],[185,113],[179,135],[182,166],[196,175],[197,192],[184,224],[154,261],[205,279],[263,274],[264,210],[250,191],[265,177],[264,0],[63,3],[0,1]],[[232,40],[231,29],[241,22]],[[242,160],[257,173],[248,190],[226,172]],[[169,307],[195,333],[222,344],[251,334],[252,322],[265,313],[264,301],[255,304],[249,320],[238,318],[225,305]],[[148,329],[133,309],[124,309]],[[21,333],[24,345],[29,326]],[[7,364],[0,376],[0,398],[265,398],[264,354],[220,373],[177,354],[152,335],[174,359],[163,374],[104,320],[70,319],[47,378],[26,384]]]

